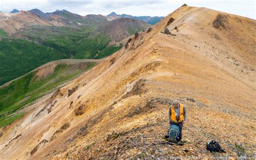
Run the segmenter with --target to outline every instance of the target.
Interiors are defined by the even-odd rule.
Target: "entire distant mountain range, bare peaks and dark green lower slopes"
[[[79,16],[66,10],[0,12],[0,46],[4,48],[0,50],[4,60],[0,85],[70,55],[76,59],[103,58],[120,49],[120,41],[147,27],[149,24],[137,19],[109,21],[101,15]]]

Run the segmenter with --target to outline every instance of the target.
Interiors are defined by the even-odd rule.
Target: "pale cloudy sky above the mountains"
[[[256,19],[255,0],[0,0],[0,11],[10,12],[12,9],[26,11],[37,8],[43,12],[65,9],[82,16],[87,14],[107,15],[113,11],[117,14],[125,13],[132,16],[167,16],[184,3],[189,6],[206,7]]]

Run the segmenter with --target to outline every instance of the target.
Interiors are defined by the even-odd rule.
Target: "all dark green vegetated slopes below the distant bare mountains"
[[[20,34],[30,40],[5,39],[0,41],[0,85],[11,81],[44,63],[67,59],[101,59],[120,46],[108,46],[110,39],[95,34],[91,27],[33,26]]]

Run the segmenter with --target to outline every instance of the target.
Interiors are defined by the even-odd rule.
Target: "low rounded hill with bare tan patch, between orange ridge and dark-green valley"
[[[52,90],[56,90],[57,86],[71,81],[100,61],[52,61],[2,85],[0,88],[0,126],[8,125],[15,120],[17,115],[24,115],[29,111],[28,108],[23,106]],[[21,110],[22,107],[23,110]]]

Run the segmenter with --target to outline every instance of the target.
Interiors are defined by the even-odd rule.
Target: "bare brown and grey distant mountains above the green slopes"
[[[0,13],[0,29],[10,36],[25,38],[23,32],[35,32],[36,26],[88,26],[95,25],[96,31],[107,33],[112,43],[119,42],[135,32],[142,31],[149,25],[143,21],[131,18],[118,18],[109,21],[100,14],[88,14],[80,16],[66,10],[44,13],[38,9],[21,11],[18,13]],[[34,26],[31,28],[31,26]],[[38,27],[39,28],[39,27]],[[42,28],[42,27],[40,27]],[[39,30],[39,29],[38,29]],[[58,28],[46,28],[45,30],[58,30]],[[63,32],[63,31],[62,31]],[[97,33],[95,33],[97,34]]]

